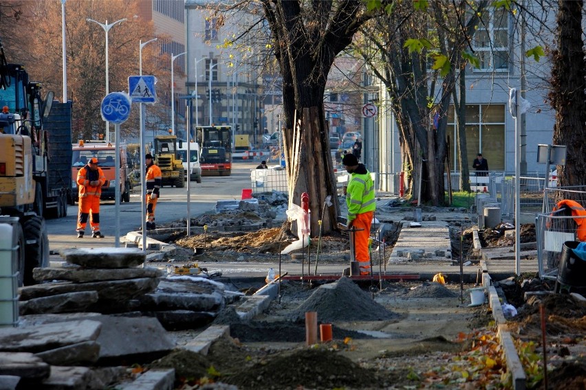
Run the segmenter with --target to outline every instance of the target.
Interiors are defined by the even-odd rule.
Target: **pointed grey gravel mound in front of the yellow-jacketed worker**
[[[341,277],[338,282],[325,284],[303,302],[294,313],[295,321],[305,321],[305,312],[317,312],[318,321],[384,321],[399,317],[373,301],[371,296]]]

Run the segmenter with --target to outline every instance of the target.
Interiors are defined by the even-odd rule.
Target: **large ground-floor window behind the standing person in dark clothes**
[[[490,170],[505,170],[505,105],[466,105],[466,156],[468,167],[478,153],[488,160]],[[453,129],[452,139],[457,139],[454,107],[448,111],[448,131]],[[456,142],[453,142],[453,166],[459,167]]]

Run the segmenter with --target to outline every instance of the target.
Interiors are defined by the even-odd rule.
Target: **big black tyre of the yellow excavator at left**
[[[30,286],[35,284],[32,278],[32,269],[49,266],[49,238],[47,237],[45,220],[39,216],[25,220],[23,233],[25,242],[27,242],[25,246],[26,262],[23,283],[25,286]]]

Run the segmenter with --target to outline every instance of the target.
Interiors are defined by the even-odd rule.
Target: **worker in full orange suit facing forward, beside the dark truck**
[[[91,231],[93,238],[103,238],[100,232],[100,195],[102,185],[106,183],[106,176],[102,168],[98,167],[98,159],[93,157],[77,172],[77,185],[79,187],[79,217],[77,220],[77,236],[83,238],[87,218],[91,212]]]

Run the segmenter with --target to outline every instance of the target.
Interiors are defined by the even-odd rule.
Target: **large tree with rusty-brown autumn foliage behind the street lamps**
[[[0,8],[1,9],[1,8]],[[138,15],[138,0],[68,0],[65,3],[65,38],[67,51],[67,92],[73,102],[73,139],[96,139],[105,133],[100,104],[105,97],[105,31],[94,22],[112,23],[109,34],[109,91],[127,91],[128,76],[138,74],[139,41],[153,38],[152,22]],[[18,45],[7,48],[10,62],[25,65],[31,80],[41,82],[44,91],[54,91],[61,98],[63,89],[61,1],[25,1],[19,27],[12,30]],[[30,26],[34,26],[34,29]],[[25,44],[23,44],[25,43]],[[158,64],[164,57],[155,55],[156,45],[143,49],[143,73],[154,74],[160,84],[169,84],[168,69]],[[159,58],[158,58],[159,57]],[[157,104],[162,106],[162,104]],[[150,108],[167,117],[168,110]],[[169,121],[167,121],[169,122]],[[120,126],[122,138],[138,135],[138,108]],[[113,126],[110,128],[113,133]]]

